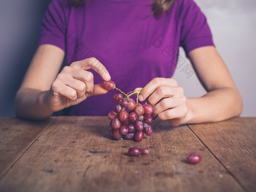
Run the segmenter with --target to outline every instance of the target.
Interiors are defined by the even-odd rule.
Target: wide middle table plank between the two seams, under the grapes
[[[142,142],[108,136],[107,117],[57,117],[0,181],[12,191],[244,191],[186,126],[153,122]],[[148,155],[129,157],[131,146]],[[186,163],[190,153],[202,161]]]

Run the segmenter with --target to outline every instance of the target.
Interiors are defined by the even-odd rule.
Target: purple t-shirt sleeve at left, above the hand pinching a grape
[[[53,0],[45,16],[39,31],[38,45],[51,44],[66,50],[65,34],[67,31],[68,3],[64,0]]]

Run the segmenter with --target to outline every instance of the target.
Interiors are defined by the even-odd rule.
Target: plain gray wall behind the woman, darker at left
[[[0,1],[0,116],[15,116],[15,93],[37,48],[39,27],[50,1]],[[242,95],[241,116],[256,117],[256,1],[195,1],[206,15],[217,50]],[[186,97],[205,94],[193,69],[187,68],[190,63],[182,49],[179,62],[182,65],[173,78]]]

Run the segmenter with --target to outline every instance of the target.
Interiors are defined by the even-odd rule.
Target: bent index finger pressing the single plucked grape
[[[102,65],[102,63],[99,62],[99,60],[97,60],[95,57],[75,61],[74,63],[71,63],[70,67],[83,70],[93,69],[102,77],[103,80],[109,81],[111,79],[106,67]]]

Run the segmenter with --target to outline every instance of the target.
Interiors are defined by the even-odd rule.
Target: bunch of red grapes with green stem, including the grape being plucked
[[[102,82],[103,87],[108,90],[114,90],[116,84],[110,80]],[[152,127],[149,125],[156,118],[153,114],[153,107],[147,103],[141,105],[138,103],[138,95],[140,91],[132,91],[130,94],[125,94],[120,89],[121,93],[113,96],[113,100],[117,102],[115,109],[108,114],[110,121],[109,136],[119,140],[135,139],[137,142],[142,141],[144,134],[150,136],[153,132]],[[129,98],[133,94],[137,94],[136,102]],[[129,112],[126,110],[129,110]]]

